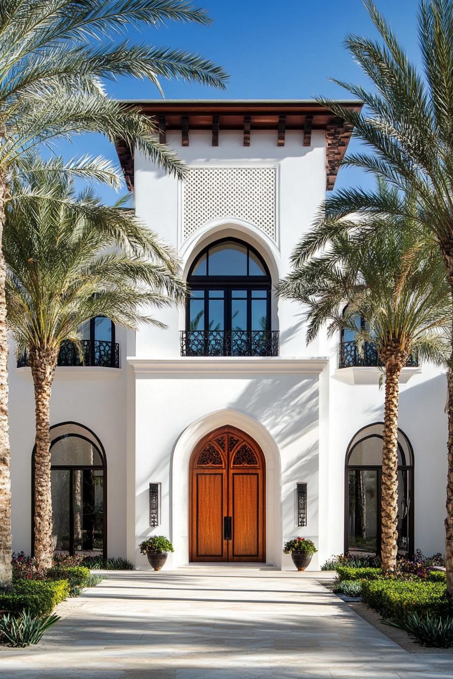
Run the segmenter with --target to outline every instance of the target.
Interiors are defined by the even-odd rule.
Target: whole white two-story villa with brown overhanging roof
[[[165,534],[167,568],[292,567],[283,541],[312,538],[311,568],[380,541],[384,394],[372,346],[352,333],[309,346],[303,309],[278,299],[296,242],[333,188],[351,130],[313,101],[151,100],[184,181],[118,144],[137,215],[173,244],[191,291],[168,329],[84,330],[85,365],[60,353],[52,392],[57,550],[127,555]],[[360,109],[360,103],[344,102]],[[357,319],[361,323],[361,319]],[[446,380],[401,375],[399,548],[443,551]],[[10,359],[14,548],[33,542],[30,370]]]

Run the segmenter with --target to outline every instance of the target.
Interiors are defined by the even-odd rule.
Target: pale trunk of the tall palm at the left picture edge
[[[8,344],[5,301],[5,259],[1,237],[5,223],[7,183],[0,172],[0,587],[11,587],[11,484],[8,436]]]

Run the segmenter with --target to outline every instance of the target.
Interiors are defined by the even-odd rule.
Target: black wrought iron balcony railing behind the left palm
[[[105,368],[120,367],[120,345],[103,339],[81,339],[81,354],[73,342],[62,342],[56,365],[94,365]],[[29,357],[25,353],[17,363],[18,368],[29,365]]]

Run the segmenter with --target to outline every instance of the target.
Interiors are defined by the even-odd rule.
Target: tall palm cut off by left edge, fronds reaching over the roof
[[[168,20],[209,24],[185,0],[1,0],[0,2],[0,587],[11,583],[10,447],[7,433],[5,263],[1,238],[10,186],[20,173],[42,172],[31,152],[73,134],[101,132],[179,175],[183,164],[156,141],[156,127],[137,107],[105,94],[104,81],[132,75],[160,88],[160,78],[224,88],[225,72],[184,50],[120,39],[128,28]],[[85,156],[58,170],[121,184],[119,170]],[[27,187],[28,189],[30,187]],[[41,185],[41,191],[46,185]],[[46,195],[43,195],[46,198]]]

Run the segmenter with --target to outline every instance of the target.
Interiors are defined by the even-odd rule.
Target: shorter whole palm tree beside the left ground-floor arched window
[[[44,175],[29,188],[54,200],[32,196],[9,206],[3,251],[8,324],[35,386],[35,556],[47,568],[53,553],[49,405],[60,346],[77,345],[81,325],[95,316],[128,328],[162,326],[146,308],[182,301],[185,286],[171,249],[129,210],[104,206],[90,189],[77,196],[67,178]]]

